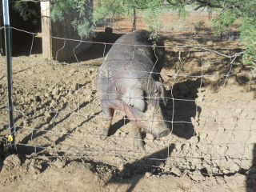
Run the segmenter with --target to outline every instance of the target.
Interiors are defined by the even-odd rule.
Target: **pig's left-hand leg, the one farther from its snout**
[[[109,134],[110,126],[112,124],[112,119],[114,116],[114,109],[104,105],[102,102],[102,112],[103,112],[103,125],[101,130],[99,130],[99,138],[102,138],[102,140],[106,139]]]

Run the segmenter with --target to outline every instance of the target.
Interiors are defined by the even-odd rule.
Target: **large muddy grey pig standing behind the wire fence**
[[[155,138],[170,133],[160,107],[160,98],[165,105],[167,102],[166,89],[160,82],[164,60],[162,40],[150,40],[147,30],[135,30],[118,38],[96,77],[104,114],[100,138],[108,137],[114,110],[123,110],[132,122],[137,150],[145,150],[142,132],[153,134]]]

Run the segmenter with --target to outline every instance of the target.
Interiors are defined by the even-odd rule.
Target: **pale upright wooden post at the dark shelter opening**
[[[40,2],[42,17],[42,57],[53,58],[50,22],[50,2]]]

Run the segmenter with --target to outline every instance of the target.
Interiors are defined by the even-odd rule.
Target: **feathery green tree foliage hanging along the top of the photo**
[[[143,13],[147,29],[156,37],[162,29],[161,15],[165,10],[175,10],[180,18],[185,18],[189,10],[207,9],[209,13],[217,13],[211,21],[215,34],[225,34],[228,27],[235,21],[240,21],[240,42],[245,46],[243,62],[256,69],[256,0],[94,0],[92,12],[86,13],[86,6],[90,6],[92,0],[51,0],[50,13],[53,21],[63,21],[64,15],[70,10],[78,11],[79,16],[74,18],[72,26],[78,30],[81,37],[89,37],[94,34],[94,26],[106,20],[114,22],[114,18],[122,15]],[[34,10],[27,6],[24,1],[14,0],[13,9],[19,11],[21,16],[27,20],[36,15]],[[135,9],[135,12],[134,12]],[[84,17],[91,15],[90,18]],[[198,26],[200,27],[200,26]]]

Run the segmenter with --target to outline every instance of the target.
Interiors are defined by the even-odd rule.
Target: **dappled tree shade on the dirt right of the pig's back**
[[[201,46],[204,48],[209,48],[210,50],[218,51],[221,54],[234,55],[241,53],[243,50],[238,46],[235,46],[234,42],[222,42],[220,40],[212,40],[211,38],[203,37],[194,39],[194,43],[188,42],[188,40],[193,40],[190,38],[185,38],[188,34],[181,34],[184,38],[168,38],[165,39],[166,45],[171,46]],[[206,35],[206,34],[205,34]],[[207,43],[209,42],[209,43]],[[229,48],[227,48],[227,47]],[[208,86],[210,90],[215,93],[224,86],[234,84],[241,86],[245,92],[255,91],[256,87],[254,85],[255,77],[252,77],[252,71],[248,66],[242,64],[242,54],[237,58],[226,58],[214,52],[195,49],[195,48],[181,48],[181,52],[177,48],[166,47],[166,63],[164,68],[166,70],[178,70],[181,63],[179,62],[179,57],[182,60],[182,69],[178,77],[178,82],[186,81],[187,78],[203,75],[202,82],[204,86]],[[234,61],[232,62],[232,60]],[[232,62],[232,63],[231,63]],[[203,65],[203,66],[202,66]],[[171,77],[172,74],[170,74]],[[182,76],[184,75],[184,76]],[[169,76],[169,75],[168,75]],[[254,94],[256,98],[256,93]]]

